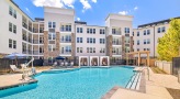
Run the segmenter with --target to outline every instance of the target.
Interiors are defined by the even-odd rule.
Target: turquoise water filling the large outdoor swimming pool
[[[0,90],[2,99],[100,99],[114,86],[125,87],[132,67],[80,68],[67,73],[42,73],[37,84]]]

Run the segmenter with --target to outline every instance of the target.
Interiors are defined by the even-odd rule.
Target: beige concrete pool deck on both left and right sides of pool
[[[41,69],[37,73],[48,70]],[[166,88],[180,89],[178,78],[172,75],[154,74],[149,68],[150,80],[147,77],[147,70],[145,70],[146,79],[146,92],[138,92],[124,88],[116,88],[110,99],[173,99]],[[25,82],[22,79],[22,74],[8,74],[0,76],[0,88],[5,86],[12,86],[20,82]],[[29,79],[26,79],[29,81]]]

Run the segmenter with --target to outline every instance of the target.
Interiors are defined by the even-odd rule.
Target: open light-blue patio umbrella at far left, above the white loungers
[[[3,58],[9,58],[9,59],[15,59],[16,65],[18,65],[18,58],[25,58],[26,55],[20,54],[20,53],[12,53],[10,55],[4,56]]]

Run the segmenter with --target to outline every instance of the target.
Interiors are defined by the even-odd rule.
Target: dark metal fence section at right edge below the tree
[[[172,75],[178,75],[178,70],[180,70],[180,57],[172,58]]]

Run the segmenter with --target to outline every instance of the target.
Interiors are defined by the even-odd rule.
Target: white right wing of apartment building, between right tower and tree
[[[150,51],[150,57],[157,57],[158,40],[165,35],[169,29],[168,20],[138,25],[133,30],[134,52]],[[142,55],[145,57],[146,55]]]

